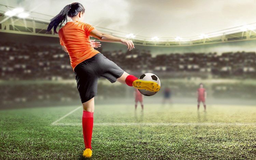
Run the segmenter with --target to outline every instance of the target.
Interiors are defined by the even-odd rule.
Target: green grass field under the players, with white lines
[[[1,110],[0,159],[83,159],[77,107]],[[144,108],[96,105],[91,159],[256,159],[254,106]]]

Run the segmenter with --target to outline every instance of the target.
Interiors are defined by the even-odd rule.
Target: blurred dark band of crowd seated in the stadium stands
[[[0,79],[61,80],[74,79],[68,53],[60,46],[26,43],[0,43]],[[256,78],[255,52],[169,53],[154,55],[147,50],[129,52],[101,51],[129,73],[152,72],[170,78],[238,77]]]

